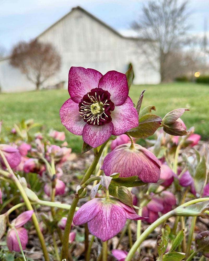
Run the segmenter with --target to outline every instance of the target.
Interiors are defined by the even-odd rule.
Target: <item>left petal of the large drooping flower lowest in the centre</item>
[[[92,220],[100,211],[102,200],[100,198],[94,198],[86,202],[73,217],[73,223],[76,226],[85,224]]]

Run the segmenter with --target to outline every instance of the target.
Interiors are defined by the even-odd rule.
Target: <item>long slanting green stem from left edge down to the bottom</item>
[[[33,207],[30,203],[30,200],[28,199],[26,193],[25,193],[25,190],[24,188],[22,187],[20,181],[18,180],[18,178],[15,176],[15,174],[13,173],[12,169],[10,168],[9,166],[9,163],[7,162],[7,159],[5,158],[3,152],[0,150],[0,155],[9,171],[9,174],[11,175],[11,179],[14,181],[16,187],[19,189],[20,191],[20,194],[23,198],[23,200],[25,201],[25,205],[27,207],[28,210],[33,210]],[[37,235],[38,235],[38,238],[40,240],[40,243],[41,243],[41,246],[42,246],[42,250],[43,250],[43,254],[44,254],[44,258],[45,258],[45,261],[49,261],[49,255],[48,255],[48,251],[47,251],[47,246],[45,244],[45,241],[44,241],[44,237],[43,237],[43,234],[40,230],[40,227],[39,227],[39,223],[38,223],[38,220],[36,218],[36,215],[35,213],[33,213],[32,215],[32,220],[33,220],[33,224],[34,224],[34,227],[36,229],[36,232],[37,232]]]

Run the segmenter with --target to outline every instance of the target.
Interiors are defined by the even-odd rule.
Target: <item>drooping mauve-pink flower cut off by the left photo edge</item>
[[[3,152],[11,168],[15,168],[20,164],[21,155],[18,149],[7,144],[0,144],[0,150]],[[5,164],[1,156],[0,156],[0,162],[5,167]]]

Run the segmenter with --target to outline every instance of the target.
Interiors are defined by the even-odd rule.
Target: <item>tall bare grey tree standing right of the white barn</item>
[[[140,21],[133,22],[133,29],[148,39],[150,50],[158,54],[161,82],[167,80],[169,55],[184,42],[183,36],[189,28],[186,10],[187,1],[178,4],[178,0],[149,0],[143,6]]]

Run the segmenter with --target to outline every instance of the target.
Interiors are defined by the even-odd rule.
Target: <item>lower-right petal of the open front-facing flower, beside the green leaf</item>
[[[138,114],[133,107],[133,102],[128,96],[123,105],[115,106],[111,112],[113,123],[113,135],[121,135],[138,126]]]

